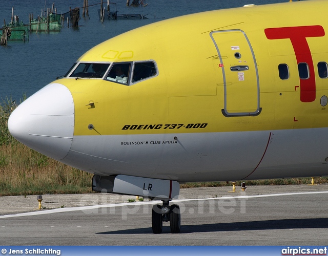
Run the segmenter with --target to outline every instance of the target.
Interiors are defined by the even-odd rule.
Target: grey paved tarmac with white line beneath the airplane
[[[328,185],[181,189],[181,233],[153,234],[151,207],[102,194],[0,197],[1,245],[327,245]],[[62,207],[63,206],[63,207]]]

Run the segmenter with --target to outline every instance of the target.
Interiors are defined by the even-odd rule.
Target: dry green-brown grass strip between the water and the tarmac
[[[92,193],[92,174],[39,154],[10,135],[7,122],[15,108],[16,102],[11,98],[0,102],[0,196]],[[315,182],[328,183],[328,178],[316,178]],[[240,183],[237,181],[236,186],[240,186]],[[245,183],[247,186],[311,184],[311,178],[255,180]],[[215,186],[232,184],[199,182],[182,184],[181,188]]]

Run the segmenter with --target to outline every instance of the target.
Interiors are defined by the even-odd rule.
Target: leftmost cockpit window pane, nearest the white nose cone
[[[78,78],[102,78],[110,63],[84,63],[81,62],[70,75]]]

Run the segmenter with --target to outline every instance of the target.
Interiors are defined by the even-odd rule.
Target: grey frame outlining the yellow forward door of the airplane
[[[245,40],[247,41],[247,44],[250,48],[252,57],[253,57],[253,63],[254,63],[254,68],[255,68],[255,74],[256,74],[256,82],[257,82],[257,109],[254,112],[236,112],[236,113],[229,113],[227,110],[227,78],[226,78],[226,70],[225,67],[223,65],[223,60],[222,60],[222,56],[220,54],[220,50],[218,45],[216,44],[216,41],[213,37],[214,33],[222,33],[222,32],[241,32],[244,37]],[[214,42],[216,51],[218,53],[219,59],[220,59],[220,63],[221,63],[221,69],[222,69],[222,75],[223,75],[223,88],[224,88],[224,109],[222,109],[222,114],[226,117],[233,117],[233,116],[257,116],[261,113],[262,108],[260,108],[260,83],[259,83],[259,76],[258,76],[258,70],[257,70],[257,62],[255,59],[255,54],[251,45],[250,40],[248,39],[247,35],[245,34],[244,31],[240,30],[240,29],[231,29],[231,30],[219,30],[219,31],[212,31],[210,33],[210,36],[212,38],[212,41]]]

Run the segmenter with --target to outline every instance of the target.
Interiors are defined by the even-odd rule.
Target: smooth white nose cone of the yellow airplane
[[[11,135],[44,155],[60,160],[67,156],[74,132],[74,102],[67,87],[50,83],[11,113]]]

